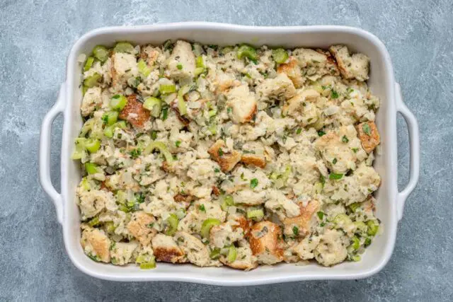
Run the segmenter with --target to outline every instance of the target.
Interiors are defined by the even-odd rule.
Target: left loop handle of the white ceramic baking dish
[[[55,117],[59,115],[64,110],[65,102],[65,91],[66,86],[64,83],[59,88],[59,94],[57,103],[53,105],[52,109],[47,112],[44,120],[42,120],[41,125],[41,134],[40,134],[40,180],[42,189],[47,193],[47,195],[52,199],[55,204],[55,209],[57,210],[57,219],[59,223],[63,223],[63,199],[62,194],[55,190],[55,187],[52,185],[52,180],[50,180],[50,141],[51,141],[51,131],[52,131],[52,122],[55,120]]]

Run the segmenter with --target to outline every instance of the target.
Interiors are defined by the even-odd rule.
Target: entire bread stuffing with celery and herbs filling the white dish
[[[379,235],[365,54],[167,40],[89,56],[72,158],[91,259],[331,266]]]

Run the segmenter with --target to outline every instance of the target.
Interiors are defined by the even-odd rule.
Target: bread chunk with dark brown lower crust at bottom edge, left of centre
[[[173,240],[173,237],[159,233],[152,238],[151,244],[156,260],[172,263],[185,262],[184,252]]]

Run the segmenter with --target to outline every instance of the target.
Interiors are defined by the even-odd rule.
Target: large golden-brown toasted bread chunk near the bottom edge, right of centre
[[[248,242],[259,263],[273,265],[283,260],[282,230],[276,223],[270,221],[255,223],[248,236]]]

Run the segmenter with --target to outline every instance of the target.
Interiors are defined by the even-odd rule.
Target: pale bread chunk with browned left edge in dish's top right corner
[[[365,81],[368,79],[369,57],[365,54],[349,54],[348,47],[334,45],[328,49],[337,60],[338,69],[345,79],[357,79]]]

